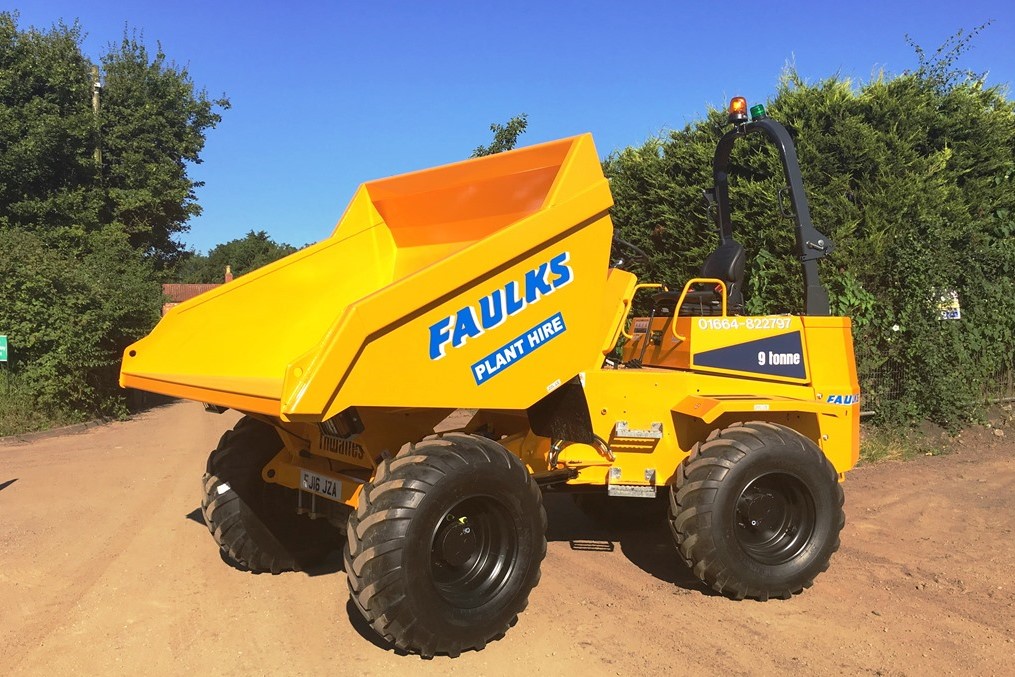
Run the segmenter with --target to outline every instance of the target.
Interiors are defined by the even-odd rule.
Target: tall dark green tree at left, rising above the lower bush
[[[200,213],[188,165],[228,108],[185,68],[125,36],[101,57],[100,112],[77,23],[21,30],[0,13],[0,223],[46,231],[112,225],[156,267]],[[101,150],[96,165],[95,149]]]

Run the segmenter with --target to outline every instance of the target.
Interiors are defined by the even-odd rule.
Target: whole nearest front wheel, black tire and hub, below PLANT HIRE
[[[546,554],[542,495],[494,442],[448,433],[384,461],[349,518],[352,601],[402,651],[458,656],[501,636]]]

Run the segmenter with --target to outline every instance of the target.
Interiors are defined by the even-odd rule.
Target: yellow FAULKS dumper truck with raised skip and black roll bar
[[[790,135],[741,98],[730,120],[706,191],[719,247],[683,285],[611,264],[583,135],[363,184],[327,240],[173,309],[121,385],[246,414],[204,475],[223,552],[279,572],[344,546],[355,606],[424,657],[481,649],[525,609],[544,490],[665,501],[679,556],[734,599],[809,587],[858,458],[850,320],[828,314],[831,245]],[[744,315],[727,175],[754,133],[786,171],[800,316]],[[629,318],[639,291],[652,310]]]

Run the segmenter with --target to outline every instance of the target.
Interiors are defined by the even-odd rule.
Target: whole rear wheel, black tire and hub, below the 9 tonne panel
[[[828,568],[842,488],[817,446],[753,421],[713,433],[681,465],[670,527],[688,566],[732,597],[789,599]]]

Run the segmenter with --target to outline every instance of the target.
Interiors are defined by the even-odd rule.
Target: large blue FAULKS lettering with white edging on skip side
[[[469,339],[496,329],[507,318],[570,284],[574,272],[567,265],[569,259],[568,252],[561,252],[527,271],[522,279],[511,280],[499,289],[430,325],[430,359],[441,359],[448,354],[449,348],[461,348]]]

